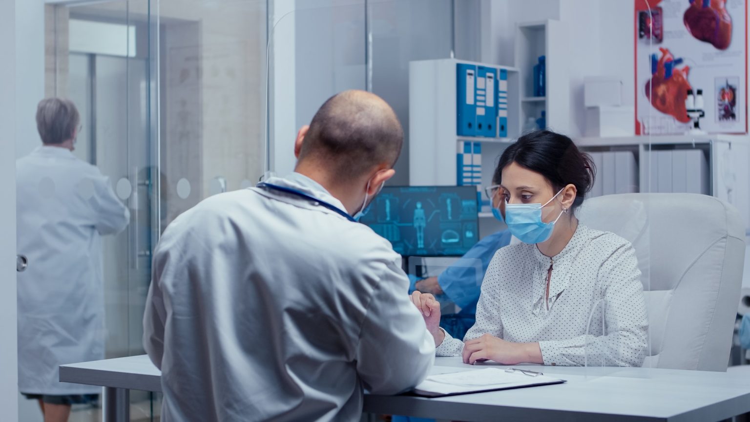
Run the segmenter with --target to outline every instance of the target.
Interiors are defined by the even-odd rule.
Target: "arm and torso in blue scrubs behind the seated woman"
[[[481,280],[484,272],[495,256],[497,249],[508,246],[511,242],[511,233],[507,230],[490,234],[476,243],[472,249],[451,267],[446,268],[440,276],[428,277],[427,279],[413,280],[410,293],[419,290],[422,293],[431,293],[438,297],[446,297],[460,308],[460,312],[443,315],[440,318],[440,327],[446,330],[455,339],[463,339],[464,334],[474,325],[474,314],[476,303],[481,291]],[[477,274],[478,265],[472,263],[481,262],[481,273]]]

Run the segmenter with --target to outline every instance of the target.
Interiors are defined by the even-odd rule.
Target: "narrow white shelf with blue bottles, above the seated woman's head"
[[[520,23],[516,27],[515,65],[520,74],[521,125],[546,112],[547,128],[568,133],[570,128],[570,78],[568,77],[568,30],[557,20]],[[534,97],[533,70],[545,56],[544,97]]]

